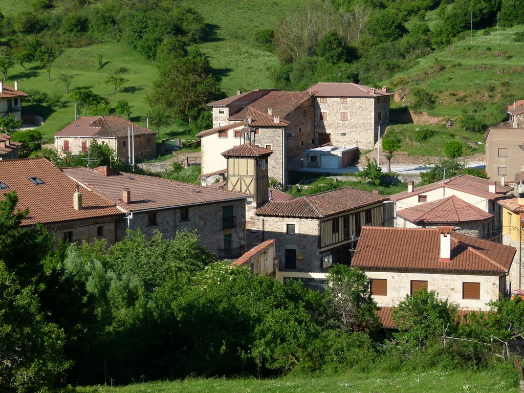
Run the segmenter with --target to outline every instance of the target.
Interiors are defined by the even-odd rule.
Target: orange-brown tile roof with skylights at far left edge
[[[36,185],[28,180],[34,176],[43,184]],[[18,208],[29,208],[24,225],[124,216],[110,200],[83,188],[80,188],[83,209],[74,210],[73,194],[77,183],[45,158],[0,161],[0,181],[8,186],[0,189],[0,199],[3,194],[16,190]]]

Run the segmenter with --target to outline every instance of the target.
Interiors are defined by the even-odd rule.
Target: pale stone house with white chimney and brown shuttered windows
[[[364,227],[351,266],[371,279],[379,307],[395,307],[422,287],[462,310],[487,310],[499,293],[515,247],[453,232],[453,227]]]

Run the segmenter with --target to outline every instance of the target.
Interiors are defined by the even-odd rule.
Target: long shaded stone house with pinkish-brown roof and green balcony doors
[[[219,258],[236,258],[245,252],[245,194],[108,167],[63,171],[125,212],[125,220],[117,227],[118,239],[128,229],[139,229],[148,238],[155,230],[171,238],[186,229],[196,231],[200,244]]]

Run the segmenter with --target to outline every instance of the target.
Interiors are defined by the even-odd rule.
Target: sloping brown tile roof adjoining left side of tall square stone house
[[[252,127],[284,127],[290,124],[286,116],[309,97],[308,91],[272,91],[249,104],[242,111],[231,115],[229,119],[245,120],[250,117],[249,125]],[[269,108],[271,108],[271,115],[268,114]],[[277,123],[275,123],[275,116],[280,118]]]

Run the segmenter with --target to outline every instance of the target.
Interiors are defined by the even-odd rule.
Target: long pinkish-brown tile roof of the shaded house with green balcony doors
[[[246,199],[246,195],[239,192],[216,190],[135,173],[117,172],[118,174],[103,176],[98,171],[87,168],[62,170],[85,187],[105,195],[127,212]],[[124,188],[131,191],[129,204],[122,201]]]

